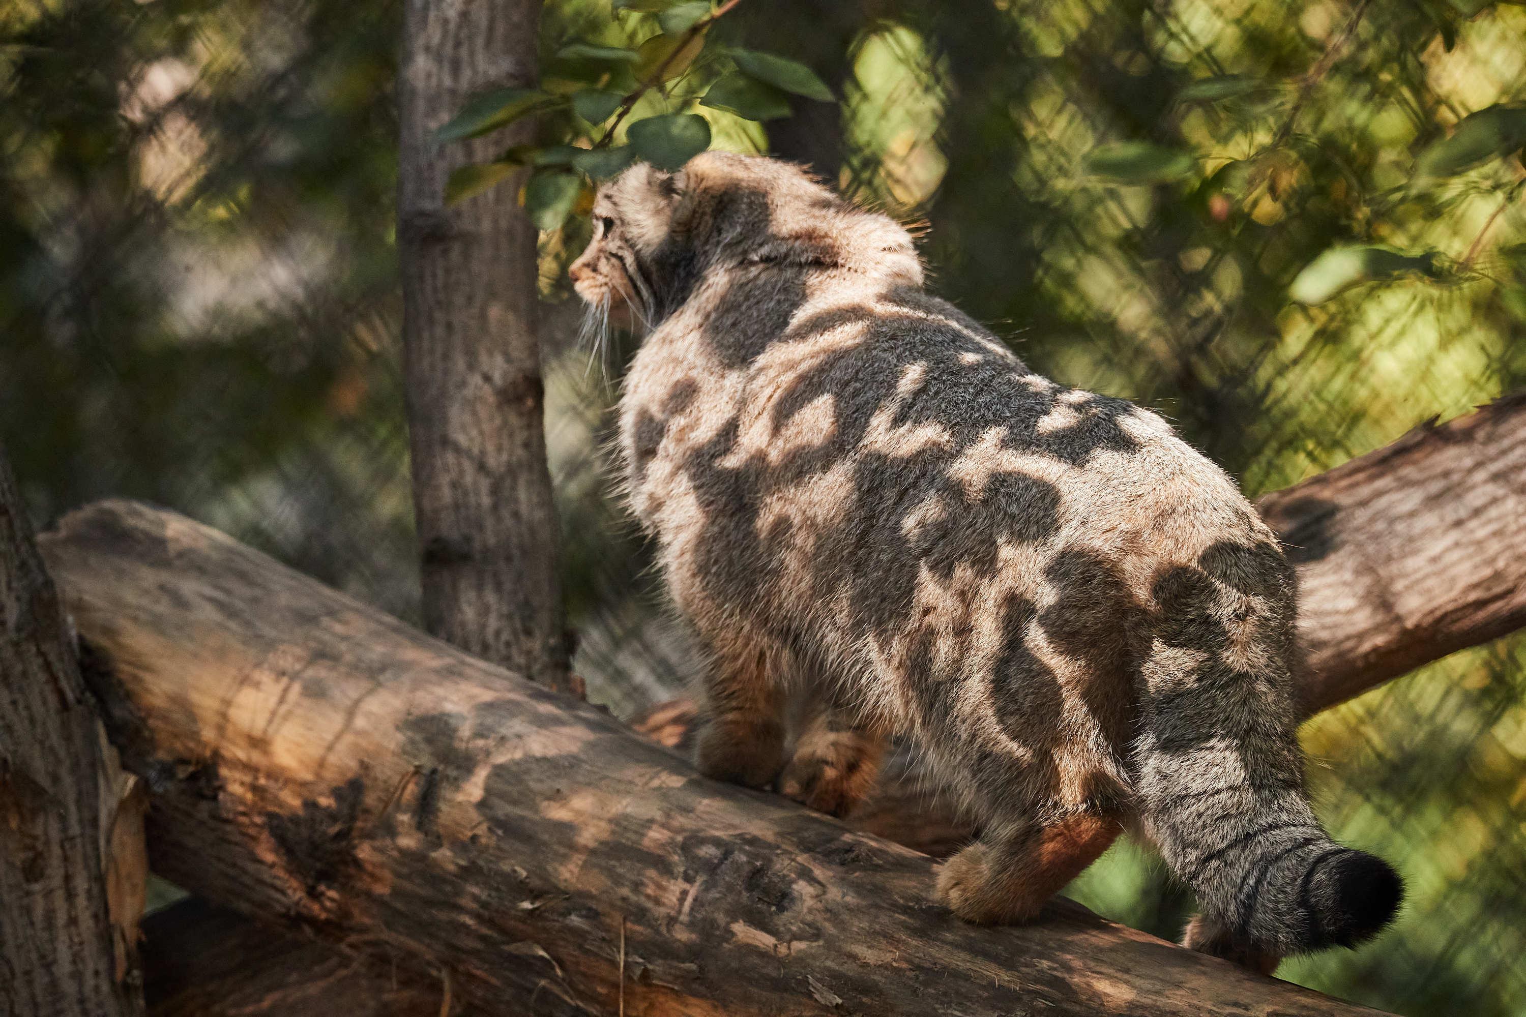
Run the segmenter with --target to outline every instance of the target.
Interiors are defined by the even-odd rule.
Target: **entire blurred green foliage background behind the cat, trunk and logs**
[[[591,364],[563,279],[606,134],[618,151],[674,117],[693,139],[679,117],[700,117],[710,146],[925,223],[943,296],[1035,367],[1160,409],[1251,496],[1526,384],[1526,6],[754,0],[610,130],[714,12],[617,6],[545,6],[552,99],[536,151],[499,162],[543,181],[525,198],[566,607],[575,669],[618,714],[693,657],[598,454],[630,340]],[[418,618],[400,34],[395,0],[0,6],[0,435],[40,523],[140,497]],[[832,101],[749,75],[740,47]],[[1410,900],[1378,942],[1280,974],[1408,1014],[1526,1009],[1526,640],[1325,714],[1305,744],[1332,831]],[[1166,936],[1187,910],[1128,845],[1071,893]]]

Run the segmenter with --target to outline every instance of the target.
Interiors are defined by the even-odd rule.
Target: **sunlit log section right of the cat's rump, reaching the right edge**
[[[1299,567],[1306,715],[1526,627],[1526,393],[1257,508]]]

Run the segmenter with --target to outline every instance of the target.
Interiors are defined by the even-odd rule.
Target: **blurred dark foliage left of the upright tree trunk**
[[[0,6],[0,435],[407,610],[401,5]]]

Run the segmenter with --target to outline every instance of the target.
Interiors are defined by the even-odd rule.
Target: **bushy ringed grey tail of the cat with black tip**
[[[1404,887],[1381,858],[1332,842],[1309,808],[1291,619],[1268,618],[1264,598],[1213,593],[1216,610],[1178,614],[1175,633],[1157,634],[1144,668],[1135,762],[1146,828],[1236,950],[1283,956],[1369,939]]]

